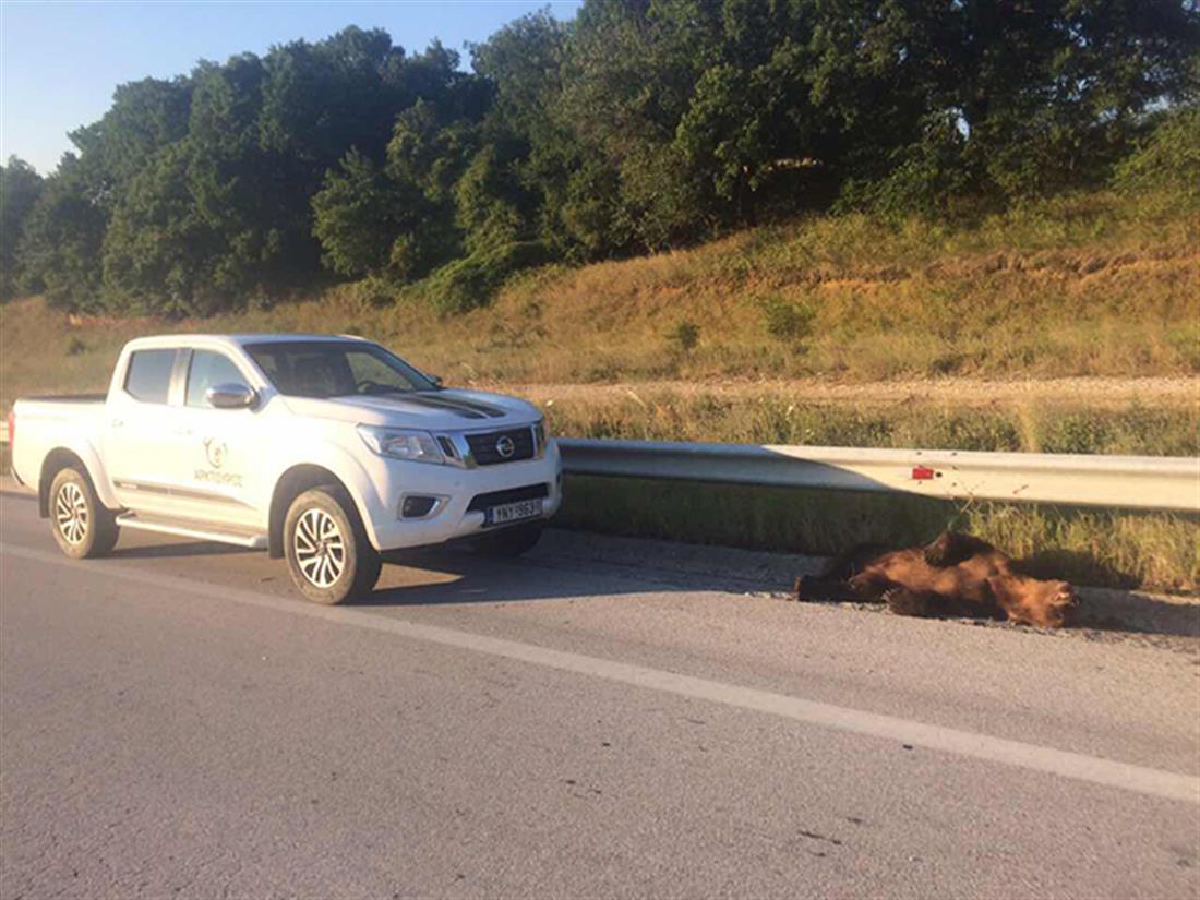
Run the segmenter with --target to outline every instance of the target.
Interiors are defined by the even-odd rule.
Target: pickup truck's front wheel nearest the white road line
[[[336,485],[314,487],[292,500],[283,520],[283,548],[296,589],[326,606],[370,593],[383,568],[354,500]]]

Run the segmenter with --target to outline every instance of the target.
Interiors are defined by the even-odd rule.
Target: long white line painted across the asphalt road
[[[1184,800],[1200,804],[1200,778],[1183,775],[1145,766],[1105,760],[1098,756],[1056,750],[1020,740],[1008,740],[971,731],[947,728],[941,725],[910,721],[890,715],[869,713],[862,709],[839,707],[833,703],[821,703],[802,700],[784,694],[740,688],[734,684],[695,678],[691,676],[665,672],[646,666],[588,656],[581,653],[553,650],[547,647],[509,641],[500,637],[474,635],[437,625],[422,625],[386,616],[378,616],[361,610],[317,606],[300,599],[287,599],[258,594],[240,588],[230,588],[205,582],[191,581],[173,575],[160,575],[137,569],[112,568],[102,562],[78,563],[58,553],[49,553],[26,547],[0,544],[0,553],[30,559],[47,565],[82,570],[89,575],[102,575],[110,578],[145,584],[175,593],[198,594],[214,600],[229,600],[246,606],[257,606],[292,616],[310,619],[324,619],[338,625],[382,631],[415,641],[427,641],[463,650],[473,650],[491,656],[528,662],[564,672],[604,678],[610,682],[646,688],[649,690],[674,694],[682,697],[724,703],[740,709],[752,709],[769,715],[779,715],[806,725],[818,725],[836,728],[854,734],[895,740],[929,750],[940,750],[976,760],[986,760],[1003,766],[1045,772],[1078,781],[1090,781],[1096,785],[1118,787],[1153,797],[1165,797],[1171,800]]]

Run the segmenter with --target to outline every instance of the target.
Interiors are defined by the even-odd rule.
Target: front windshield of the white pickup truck
[[[383,347],[359,341],[246,344],[263,374],[289,397],[349,397],[432,391],[437,385]]]

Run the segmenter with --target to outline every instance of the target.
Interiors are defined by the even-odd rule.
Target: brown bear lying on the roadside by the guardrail
[[[1039,581],[994,546],[947,532],[924,547],[864,545],[817,577],[796,580],[797,600],[884,602],[899,616],[995,618],[1061,628],[1079,598],[1064,581]]]

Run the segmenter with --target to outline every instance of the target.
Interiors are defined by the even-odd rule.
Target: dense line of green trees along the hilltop
[[[809,210],[1200,168],[1193,0],[587,0],[461,62],[347,28],[124,84],[53,174],[0,167],[0,293],[208,314],[426,278],[464,308]]]

